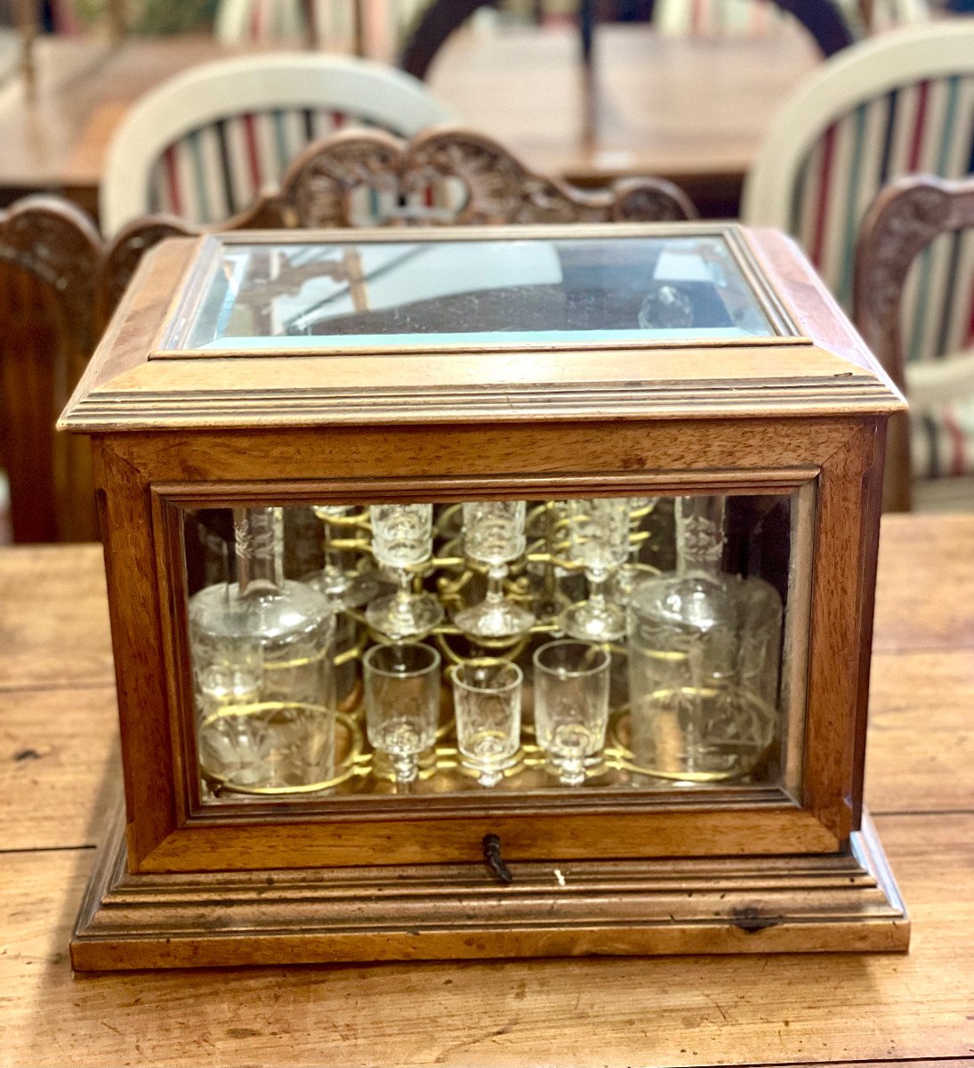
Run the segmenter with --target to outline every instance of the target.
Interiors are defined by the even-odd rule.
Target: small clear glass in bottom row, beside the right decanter
[[[537,741],[565,786],[585,781],[585,759],[606,745],[611,657],[588,642],[557,641],[534,654]]]

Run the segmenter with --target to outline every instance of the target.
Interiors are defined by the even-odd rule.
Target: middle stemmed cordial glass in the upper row
[[[523,501],[471,501],[464,505],[464,553],[487,565],[487,596],[456,613],[453,622],[471,638],[515,639],[534,624],[534,614],[504,596],[510,563],[524,554]]]

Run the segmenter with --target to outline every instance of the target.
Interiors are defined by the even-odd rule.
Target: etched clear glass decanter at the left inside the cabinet
[[[189,601],[204,774],[242,787],[308,786],[334,774],[334,616],[284,578],[280,508],[235,508],[237,581]]]

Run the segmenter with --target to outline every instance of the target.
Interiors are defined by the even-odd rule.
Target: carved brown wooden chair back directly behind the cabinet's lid
[[[443,127],[408,142],[380,130],[349,130],[310,145],[279,191],[261,198],[227,225],[651,222],[695,216],[693,204],[672,183],[632,178],[609,190],[582,192],[535,174],[488,137]],[[146,248],[167,236],[201,231],[160,216],[125,226],[110,242],[101,267],[104,314],[114,308]]]

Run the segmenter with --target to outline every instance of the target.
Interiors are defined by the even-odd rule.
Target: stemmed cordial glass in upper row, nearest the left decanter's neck
[[[393,641],[428,634],[443,618],[443,609],[431,594],[412,592],[410,568],[433,555],[433,505],[373,504],[368,517],[375,557],[399,584],[392,596],[368,606],[368,626]]]

